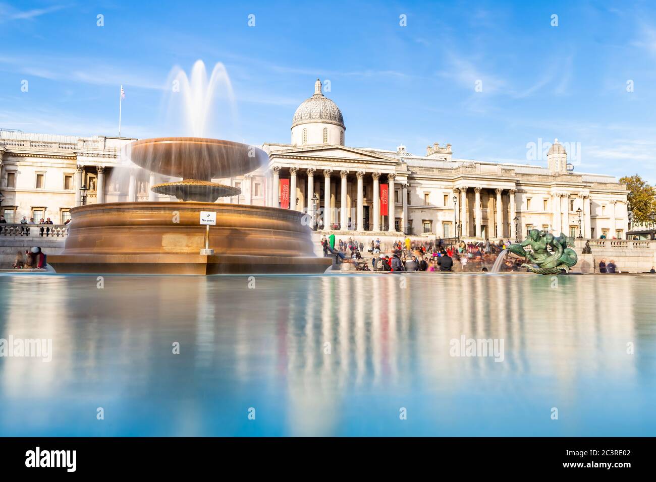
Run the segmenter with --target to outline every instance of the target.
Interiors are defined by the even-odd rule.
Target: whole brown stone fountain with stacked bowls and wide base
[[[207,115],[207,109],[200,115]],[[48,258],[58,273],[323,273],[331,265],[329,258],[314,254],[302,212],[215,202],[241,190],[212,179],[266,165],[268,156],[261,149],[227,140],[168,137],[135,141],[127,155],[148,171],[182,178],[151,187],[178,202],[74,207],[64,251]],[[214,226],[200,224],[201,212],[207,211],[216,213]]]

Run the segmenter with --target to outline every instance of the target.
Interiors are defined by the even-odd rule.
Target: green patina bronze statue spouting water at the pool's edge
[[[508,247],[508,251],[526,258],[522,266],[533,273],[541,275],[557,275],[568,273],[569,268],[579,260],[576,252],[567,247],[567,236],[560,233],[556,237],[551,233],[540,230],[531,230],[522,243],[514,243]],[[531,247],[526,251],[525,247]],[[549,251],[551,249],[551,251]]]

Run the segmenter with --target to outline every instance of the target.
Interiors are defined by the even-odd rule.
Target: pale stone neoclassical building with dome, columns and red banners
[[[424,155],[348,147],[345,134],[342,112],[317,80],[293,115],[290,144],[262,144],[268,166],[217,180],[242,191],[219,201],[306,212],[318,235],[516,239],[532,228],[576,237],[580,227],[586,238],[623,239],[628,231],[625,186],[568,171],[558,140],[539,167],[455,159],[451,144],[437,142]],[[169,200],[150,191],[167,178],[120,167],[119,151],[131,140],[0,132],[5,218],[63,223],[83,202],[82,185],[87,203]]]

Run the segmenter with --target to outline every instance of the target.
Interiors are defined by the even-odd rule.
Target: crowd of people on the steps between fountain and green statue
[[[364,243],[352,238],[336,239],[335,233],[323,236],[321,246],[323,255],[339,252],[349,258],[362,271],[488,271],[497,259],[497,254],[510,245],[510,240],[490,242],[489,239],[478,243],[437,239],[436,241],[412,241],[409,237],[397,240],[391,245],[382,245],[380,239],[372,239],[365,247]],[[373,254],[370,262],[363,256]],[[368,258],[367,258],[368,259]],[[506,257],[502,271],[523,270],[523,260]],[[371,266],[369,266],[371,265]]]

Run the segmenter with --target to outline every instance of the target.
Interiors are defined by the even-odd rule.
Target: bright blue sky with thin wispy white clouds
[[[165,136],[169,73],[202,59],[225,64],[237,98],[236,116],[217,104],[216,137],[289,142],[319,77],[349,146],[449,142],[457,158],[525,163],[527,143],[558,137],[580,146],[577,171],[656,182],[649,1],[0,0],[0,41],[5,129],[115,135],[123,84],[121,134]]]

